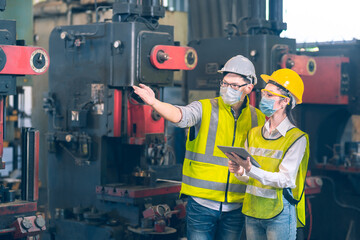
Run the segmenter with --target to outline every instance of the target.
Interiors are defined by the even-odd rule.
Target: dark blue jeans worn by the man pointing
[[[188,240],[239,240],[245,223],[241,208],[221,212],[198,204],[191,197],[186,205]]]

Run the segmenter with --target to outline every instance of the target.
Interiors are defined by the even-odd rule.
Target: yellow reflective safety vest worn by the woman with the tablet
[[[287,131],[285,137],[278,139],[265,139],[262,135],[262,127],[256,127],[248,133],[248,145],[250,154],[259,162],[261,169],[269,172],[279,172],[279,166],[289,148],[301,137],[305,136],[307,146],[299,166],[296,177],[296,187],[292,189],[296,204],[297,226],[305,226],[305,177],[309,160],[308,135],[298,128]],[[266,186],[254,178],[249,178],[246,189],[243,213],[247,216],[259,219],[271,219],[279,215],[283,210],[283,189]]]

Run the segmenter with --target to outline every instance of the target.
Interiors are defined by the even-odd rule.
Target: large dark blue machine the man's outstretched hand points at
[[[159,25],[161,1],[115,1],[112,10],[112,21],[59,26],[50,35],[44,237],[176,239],[182,165],[164,119],[132,86],[151,86],[162,99],[173,71],[194,69],[197,54],[177,46],[173,27]]]

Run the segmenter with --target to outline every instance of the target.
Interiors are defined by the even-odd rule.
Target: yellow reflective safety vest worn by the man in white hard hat
[[[188,133],[180,193],[219,202],[242,202],[246,183],[229,173],[229,159],[217,146],[244,146],[247,131],[263,125],[265,116],[249,105],[247,97],[237,120],[221,97],[200,102],[201,126],[195,139],[190,139]]]

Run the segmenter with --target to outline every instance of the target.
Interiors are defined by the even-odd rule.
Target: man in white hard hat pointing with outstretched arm
[[[166,120],[189,128],[181,186],[181,194],[188,196],[189,240],[240,239],[246,183],[229,172],[228,158],[217,146],[243,147],[247,131],[265,121],[247,96],[257,83],[252,62],[237,55],[219,72],[220,97],[187,106],[161,102],[149,87],[134,86],[135,93]]]

